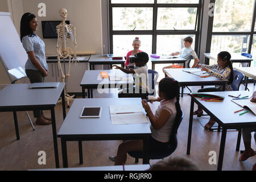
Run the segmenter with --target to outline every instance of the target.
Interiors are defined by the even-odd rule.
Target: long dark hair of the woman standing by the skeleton
[[[22,18],[20,20],[20,41],[22,42],[23,36],[30,36],[33,37],[35,36],[35,32],[31,30],[30,27],[30,21],[36,18],[36,16],[32,13],[25,13],[22,15]]]

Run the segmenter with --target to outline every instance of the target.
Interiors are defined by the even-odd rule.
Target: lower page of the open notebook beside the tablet
[[[110,116],[113,125],[148,123],[144,113],[111,114]]]

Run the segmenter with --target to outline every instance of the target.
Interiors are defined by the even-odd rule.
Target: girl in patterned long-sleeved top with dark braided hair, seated
[[[209,75],[219,78],[220,80],[229,80],[226,84],[225,91],[232,91],[231,84],[233,82],[233,67],[230,61],[231,55],[229,52],[222,51],[218,53],[217,64],[205,65],[197,64],[197,68],[201,68],[202,71],[208,72]],[[214,69],[214,71],[212,70]],[[215,86],[211,88],[199,89],[197,92],[218,92],[222,91],[222,86]],[[193,115],[202,115],[203,110],[199,107],[196,111],[193,112]],[[205,130],[209,130],[215,123],[213,118],[210,118],[209,122],[204,126]]]

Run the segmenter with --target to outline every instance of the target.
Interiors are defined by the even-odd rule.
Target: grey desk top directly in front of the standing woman
[[[0,109],[56,105],[65,83],[60,82],[57,88],[29,89],[29,86],[30,84],[10,84],[0,90]]]

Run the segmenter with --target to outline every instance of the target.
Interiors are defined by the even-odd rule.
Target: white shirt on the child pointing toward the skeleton
[[[147,65],[143,67],[137,67],[134,69],[135,77],[135,86],[139,87],[142,90],[147,90],[148,92],[148,74],[147,74]]]

